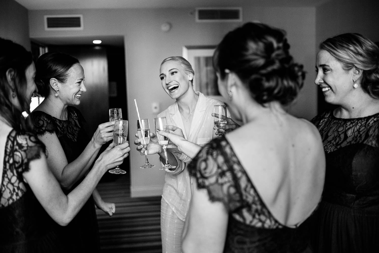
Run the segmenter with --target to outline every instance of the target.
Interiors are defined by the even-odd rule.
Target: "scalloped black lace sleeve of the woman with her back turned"
[[[227,154],[219,141],[205,145],[189,164],[188,170],[196,178],[197,188],[207,189],[210,201],[220,201],[229,212],[233,212],[241,206],[242,197],[235,186],[236,175],[229,169]]]

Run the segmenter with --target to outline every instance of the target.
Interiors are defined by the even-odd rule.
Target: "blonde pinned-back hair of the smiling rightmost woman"
[[[344,33],[326,39],[319,48],[341,62],[344,70],[353,67],[363,70],[363,90],[379,98],[379,48],[374,42],[358,33]]]

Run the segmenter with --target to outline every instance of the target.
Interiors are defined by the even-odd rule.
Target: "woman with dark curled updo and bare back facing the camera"
[[[288,114],[302,66],[285,32],[246,23],[216,48],[221,95],[243,125],[193,159],[193,197],[183,252],[303,252],[324,185],[321,138]]]

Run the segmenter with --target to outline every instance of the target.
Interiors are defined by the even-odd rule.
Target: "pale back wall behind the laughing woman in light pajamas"
[[[308,73],[314,72],[316,50],[315,7],[243,7],[243,22],[259,20],[287,31],[291,53],[304,64]],[[155,164],[152,169],[139,169],[144,164],[133,145],[137,114],[134,99],[138,102],[141,117],[152,120],[151,103],[158,102],[161,111],[174,102],[163,91],[159,79],[161,61],[182,55],[183,45],[216,45],[224,34],[242,23],[196,23],[191,9],[102,9],[29,11],[30,37],[49,36],[125,36],[125,62],[127,73],[127,105],[130,121],[129,141],[132,197],[160,195],[164,171],[158,170],[157,155],[149,156]],[[84,30],[74,32],[44,31],[45,14],[83,14]],[[171,22],[171,31],[160,30],[164,22]],[[291,107],[297,116],[311,119],[316,115],[316,86],[313,77],[305,80],[304,88]]]

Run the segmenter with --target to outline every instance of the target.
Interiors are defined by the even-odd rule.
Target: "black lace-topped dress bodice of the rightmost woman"
[[[379,211],[379,113],[340,119],[330,111],[312,122],[326,155],[323,200]]]

